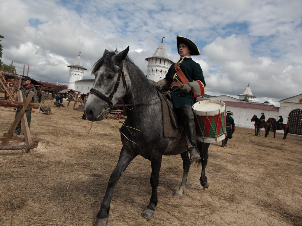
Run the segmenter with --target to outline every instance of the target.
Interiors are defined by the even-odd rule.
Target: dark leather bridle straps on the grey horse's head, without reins
[[[94,89],[94,88],[90,89],[90,93],[94,94],[98,98],[107,102],[107,104],[105,105],[105,107],[107,109],[114,107],[114,104],[111,102],[111,100],[113,98],[114,93],[116,93],[116,91],[117,91],[117,87],[120,84],[120,77],[122,77],[122,80],[124,83],[124,88],[126,88],[126,91],[128,93],[128,86],[127,86],[126,79],[125,79],[126,75],[124,74],[124,70],[123,70],[123,62],[120,62],[120,64],[118,64],[117,62],[114,62],[114,64],[117,65],[120,68],[120,70],[118,72],[117,80],[115,82],[112,93],[109,95],[109,97],[105,96],[104,94],[99,92],[97,89]],[[117,105],[115,105],[115,106],[117,106]],[[124,106],[124,105],[121,105],[121,106]]]

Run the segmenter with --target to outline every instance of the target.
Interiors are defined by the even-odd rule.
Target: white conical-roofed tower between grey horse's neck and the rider
[[[163,38],[164,37],[162,37],[162,41]],[[163,42],[159,44],[153,56],[146,58],[145,60],[148,61],[146,77],[156,82],[165,77],[169,70],[169,67],[173,63],[167,58]]]

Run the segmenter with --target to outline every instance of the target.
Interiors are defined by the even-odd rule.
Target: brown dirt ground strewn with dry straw
[[[39,141],[34,155],[0,151],[2,226],[91,226],[117,163],[121,123],[91,123],[72,104],[41,105],[48,104],[51,115],[32,114],[31,136]],[[14,115],[0,106],[1,134]],[[172,196],[182,180],[181,157],[164,156],[152,218],[140,215],[151,195],[151,164],[137,156],[114,190],[108,225],[302,225],[302,139],[282,137],[264,138],[263,130],[255,137],[254,130],[237,127],[227,147],[210,145],[209,188],[201,187],[201,168],[192,165],[180,200]]]

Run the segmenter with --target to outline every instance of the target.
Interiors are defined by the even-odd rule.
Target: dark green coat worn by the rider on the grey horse
[[[173,82],[173,76],[176,73],[174,69],[173,63],[165,77],[165,80],[169,83],[169,85]],[[180,68],[182,69],[182,72],[185,74],[189,82],[200,80],[204,86],[206,83],[204,82],[204,76],[202,74],[202,69],[198,63],[193,61],[192,58],[185,57],[182,63],[179,64]],[[176,75],[176,78],[181,81],[181,79]],[[167,91],[167,90],[163,90]],[[174,108],[179,108],[183,105],[193,105],[194,101],[190,94],[184,93],[182,90],[176,90],[171,93],[172,96],[172,102],[174,105]]]

